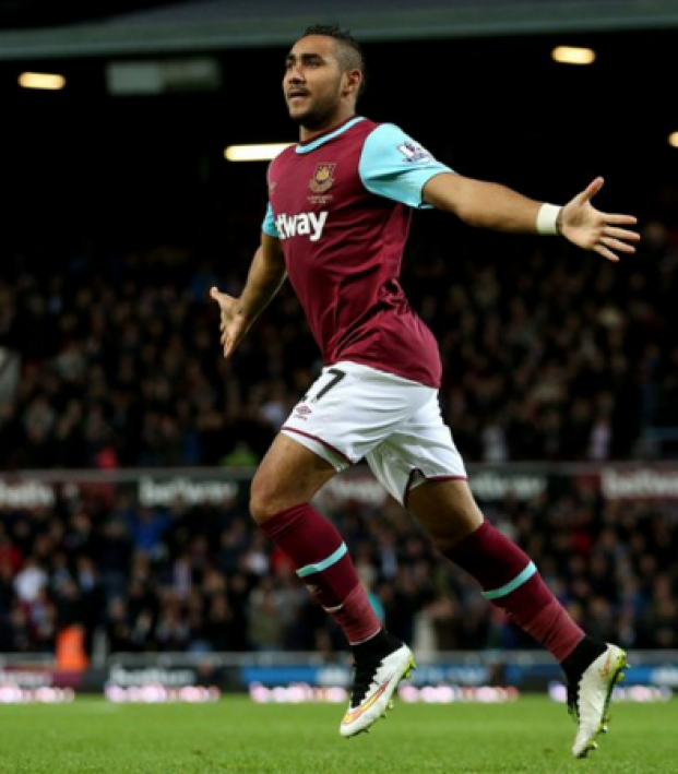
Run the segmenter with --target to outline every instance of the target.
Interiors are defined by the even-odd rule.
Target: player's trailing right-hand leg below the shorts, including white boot
[[[483,587],[483,595],[546,647],[568,679],[568,704],[578,719],[575,758],[595,749],[608,704],[622,677],[626,653],[586,636],[542,580],[530,558],[487,522],[466,481],[427,481],[411,490],[409,510],[440,552]]]

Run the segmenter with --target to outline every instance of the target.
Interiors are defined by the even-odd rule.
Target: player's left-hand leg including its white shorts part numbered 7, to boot
[[[355,676],[340,726],[344,737],[367,730],[384,715],[414,659],[407,645],[381,628],[346,546],[308,501],[335,471],[386,439],[431,392],[358,364],[323,369],[283,426],[289,438],[276,440],[252,484],[254,519],[294,557],[297,574],[340,622],[350,645]]]

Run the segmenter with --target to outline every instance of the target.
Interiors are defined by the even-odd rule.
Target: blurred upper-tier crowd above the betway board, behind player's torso
[[[555,239],[454,247],[441,215],[417,221],[402,282],[440,342],[464,457],[676,452],[670,432],[647,439],[678,428],[678,231],[649,222],[640,253],[612,264]],[[288,286],[224,361],[209,288],[237,295],[250,259],[176,246],[3,258],[0,348],[19,365],[0,386],[0,467],[254,464],[320,362]]]

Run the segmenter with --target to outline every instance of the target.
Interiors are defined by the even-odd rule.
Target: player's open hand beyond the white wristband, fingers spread
[[[638,221],[633,215],[619,215],[596,210],[591,200],[603,188],[604,180],[597,177],[578,193],[560,211],[559,229],[566,239],[584,250],[594,250],[608,261],[618,261],[617,253],[635,252],[640,234],[626,228]]]

